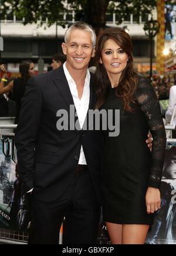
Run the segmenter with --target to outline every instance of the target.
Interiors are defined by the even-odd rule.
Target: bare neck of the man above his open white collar
[[[73,78],[76,84],[86,79],[87,68],[73,69],[70,65],[67,65],[67,62],[66,62],[66,68],[67,68],[67,71],[69,71],[70,76]]]

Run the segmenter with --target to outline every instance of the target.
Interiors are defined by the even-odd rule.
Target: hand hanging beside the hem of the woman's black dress
[[[160,189],[148,187],[145,202],[148,214],[153,214],[155,211],[158,211],[161,207]]]

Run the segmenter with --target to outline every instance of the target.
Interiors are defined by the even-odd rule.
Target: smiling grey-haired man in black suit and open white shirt
[[[25,191],[32,191],[32,227],[29,244],[57,244],[66,218],[66,244],[94,244],[100,215],[100,158],[103,137],[82,129],[87,111],[96,104],[88,68],[96,35],[77,22],[65,34],[67,57],[60,68],[29,80],[16,131],[19,175]],[[58,110],[71,115],[72,129],[57,129]],[[87,115],[87,116],[86,116]],[[64,120],[63,120],[64,122]]]

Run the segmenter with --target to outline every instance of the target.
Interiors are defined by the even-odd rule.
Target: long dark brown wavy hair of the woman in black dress
[[[130,36],[121,28],[106,29],[97,38],[96,44],[96,74],[94,86],[97,93],[96,108],[100,108],[106,101],[106,95],[111,87],[110,80],[103,64],[100,64],[102,59],[103,46],[108,39],[113,39],[121,49],[128,55],[126,68],[123,70],[119,85],[116,88],[116,95],[123,100],[124,110],[133,112],[130,107],[131,102],[135,102],[133,95],[137,88],[137,74],[133,70],[133,46]]]

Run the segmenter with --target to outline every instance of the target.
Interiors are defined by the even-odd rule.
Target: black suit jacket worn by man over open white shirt
[[[89,109],[93,109],[95,103],[91,74]],[[69,113],[70,105],[74,105],[74,102],[63,67],[29,79],[15,135],[19,177],[25,191],[34,188],[40,200],[55,200],[62,196],[74,178],[83,145],[100,201],[103,137],[100,131],[58,131],[56,112],[66,109]]]

